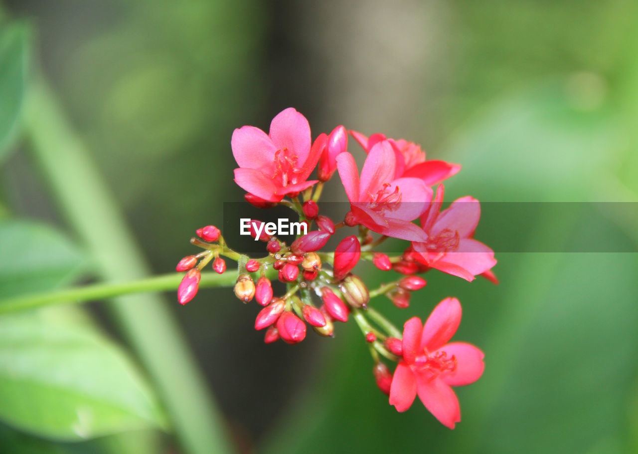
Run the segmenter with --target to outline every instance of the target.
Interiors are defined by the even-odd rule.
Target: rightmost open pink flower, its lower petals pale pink
[[[420,263],[444,273],[473,281],[496,264],[494,251],[472,238],[479,224],[480,204],[473,197],[461,197],[439,213],[443,185],[421,216],[424,242],[413,242],[414,257]]]

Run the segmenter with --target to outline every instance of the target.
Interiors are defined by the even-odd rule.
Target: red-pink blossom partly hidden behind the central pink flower
[[[452,164],[441,160],[426,160],[426,152],[418,144],[404,139],[387,139],[382,133],[376,133],[366,137],[360,132],[350,131],[360,146],[367,153],[382,140],[388,140],[392,144],[397,156],[396,178],[409,177],[422,179],[427,186],[434,186],[441,181],[450,178],[461,170],[461,165]]]

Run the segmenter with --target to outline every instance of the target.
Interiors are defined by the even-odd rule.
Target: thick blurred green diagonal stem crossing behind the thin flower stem
[[[122,213],[43,80],[30,87],[26,135],[71,227],[93,256],[98,275],[121,282],[149,269]],[[163,299],[156,294],[120,296],[112,310],[151,375],[184,451],[232,451],[224,422]]]

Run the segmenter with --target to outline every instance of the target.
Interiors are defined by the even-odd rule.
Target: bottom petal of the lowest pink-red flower
[[[417,393],[423,405],[445,427],[461,421],[461,407],[454,390],[438,377],[417,377]]]

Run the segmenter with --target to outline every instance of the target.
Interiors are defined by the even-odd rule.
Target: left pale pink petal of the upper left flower
[[[271,174],[277,149],[268,135],[255,126],[242,126],[233,131],[230,148],[239,167],[262,170]]]

